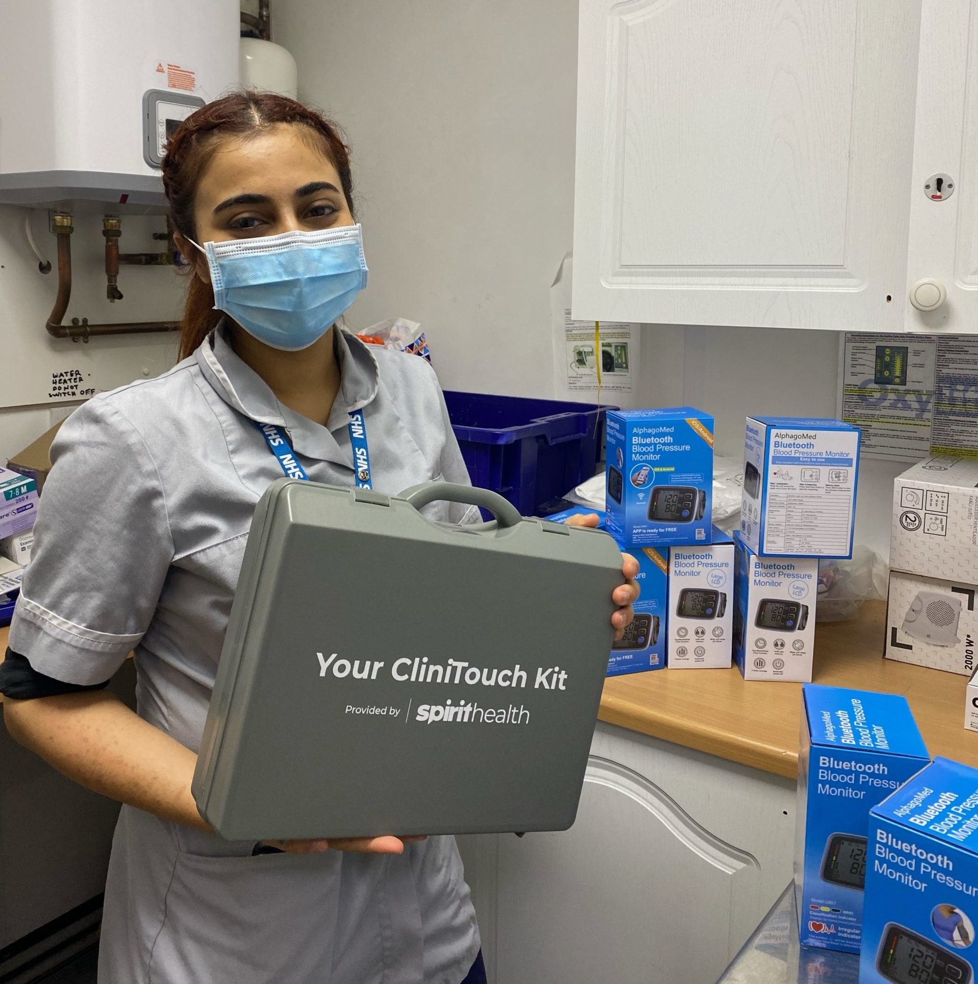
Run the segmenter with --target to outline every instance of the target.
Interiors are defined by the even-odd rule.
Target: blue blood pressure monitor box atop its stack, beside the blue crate
[[[692,406],[612,410],[608,531],[627,547],[708,543],[713,418]]]

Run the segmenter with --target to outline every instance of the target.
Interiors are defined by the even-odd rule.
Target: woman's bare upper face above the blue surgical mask
[[[334,164],[315,147],[315,135],[280,123],[267,133],[220,144],[197,186],[197,241],[221,242],[353,225]],[[197,250],[198,276],[209,280]],[[187,255],[185,253],[185,255]],[[189,258],[189,257],[188,257]]]

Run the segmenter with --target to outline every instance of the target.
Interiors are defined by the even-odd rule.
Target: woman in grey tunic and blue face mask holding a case
[[[256,845],[197,812],[196,753],[263,490],[283,468],[392,493],[467,475],[427,363],[335,324],[366,266],[347,149],[326,120],[230,95],[183,123],[163,182],[193,267],[184,358],[64,425],[0,677],[14,737],[124,804],[99,979],[484,980],[454,838]],[[360,423],[369,466],[354,472]],[[276,438],[297,463],[279,461]],[[619,634],[638,595],[632,558],[623,572]],[[138,715],[101,689],[133,648]]]

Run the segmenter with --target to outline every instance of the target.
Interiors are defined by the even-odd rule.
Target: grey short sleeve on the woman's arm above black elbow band
[[[153,618],[173,539],[155,463],[109,400],[90,400],[51,448],[10,647],[67,683],[107,680]]]

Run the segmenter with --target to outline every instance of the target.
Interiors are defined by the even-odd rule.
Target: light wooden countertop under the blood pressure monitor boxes
[[[867,602],[851,622],[820,623],[815,682],[903,694],[931,755],[978,768],[978,731],[964,727],[967,678],[884,659],[886,605]],[[0,660],[7,629],[0,629]],[[3,698],[0,696],[0,701]],[[602,721],[795,778],[801,684],[747,683],[729,670],[654,670],[610,677]]]

